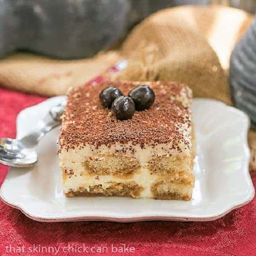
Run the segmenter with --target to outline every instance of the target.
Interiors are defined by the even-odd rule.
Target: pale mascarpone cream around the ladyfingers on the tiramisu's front
[[[111,145],[111,147],[102,145],[98,149],[92,145],[86,145],[81,149],[77,147],[75,149],[69,149],[68,151],[61,150],[59,153],[59,166],[62,169],[67,170],[67,178],[64,180],[63,184],[64,192],[67,193],[70,192],[70,190],[79,191],[80,188],[83,188],[89,192],[90,186],[94,185],[102,185],[103,188],[106,188],[111,185],[110,182],[123,183],[134,181],[139,186],[144,187],[141,197],[152,197],[152,192],[150,190],[151,186],[159,177],[156,174],[150,174],[150,171],[147,169],[147,162],[152,156],[172,155],[182,157],[184,155],[190,155],[190,150],[187,145],[181,143],[180,147],[183,150],[182,153],[178,150],[172,149],[171,143],[158,144],[155,147],[148,145],[144,149],[141,149],[139,145],[131,145],[128,143],[114,144]],[[123,150],[126,150],[126,152]],[[93,156],[93,154],[100,154],[103,157],[104,154],[121,154],[121,156],[134,157],[142,167],[139,171],[134,173],[131,178],[120,178],[119,176],[115,175],[92,175],[86,171],[83,161],[85,156]],[[173,184],[173,188],[180,188],[184,192],[189,192],[191,190],[191,187],[182,184]]]

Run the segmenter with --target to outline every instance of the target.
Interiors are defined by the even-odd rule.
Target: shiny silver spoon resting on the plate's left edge
[[[43,136],[61,123],[64,102],[50,109],[36,127],[23,138],[0,138],[0,163],[14,167],[31,166],[37,161],[35,147]]]

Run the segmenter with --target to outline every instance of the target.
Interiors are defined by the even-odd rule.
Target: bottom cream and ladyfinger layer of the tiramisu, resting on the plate
[[[122,193],[125,191],[125,196],[164,199],[168,192],[166,190],[166,186],[168,186],[171,192],[170,199],[174,199],[173,193],[175,192],[176,195],[185,195],[184,197],[189,200],[193,184],[178,183],[175,178],[175,175],[152,174],[147,168],[140,168],[137,173],[134,173],[129,177],[118,177],[114,175],[88,175],[86,173],[83,173],[81,176],[75,176],[74,173],[72,178],[69,178],[69,175],[65,175],[64,193],[69,196],[78,194],[83,194],[84,196],[90,196],[90,194],[122,196]],[[117,187],[119,187],[120,190],[117,190]]]

